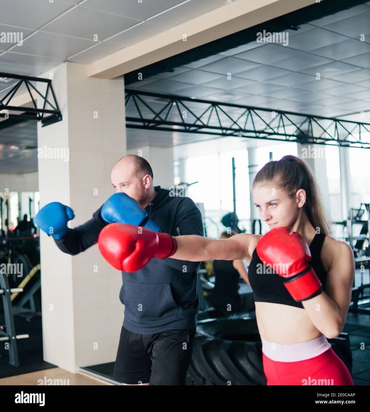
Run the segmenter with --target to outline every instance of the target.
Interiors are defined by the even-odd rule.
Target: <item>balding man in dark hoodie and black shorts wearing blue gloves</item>
[[[68,206],[53,202],[43,208],[43,213],[43,209],[39,212],[37,224],[52,234],[60,250],[70,255],[86,250],[97,242],[103,227],[112,222],[142,225],[157,231],[160,228],[172,236],[203,236],[201,213],[194,202],[188,197],[174,196],[160,186],[154,187],[152,168],[143,157],[124,156],[113,167],[111,180],[117,193],[91,220],[75,229],[66,225],[74,217]],[[131,198],[141,207],[136,202],[132,204]],[[51,224],[55,215],[64,216],[62,224],[59,221]],[[153,258],[141,270],[122,272],[119,298],[125,311],[115,362],[117,381],[126,385],[185,384],[199,307],[196,272],[199,264]]]

